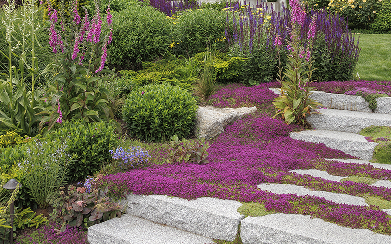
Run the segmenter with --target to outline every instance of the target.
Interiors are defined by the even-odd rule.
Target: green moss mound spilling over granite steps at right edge
[[[379,143],[373,152],[373,163],[391,164],[391,127],[369,126],[360,131],[369,142]]]

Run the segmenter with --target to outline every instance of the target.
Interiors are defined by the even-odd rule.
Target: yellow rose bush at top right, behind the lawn
[[[369,29],[379,13],[382,0],[331,0],[331,11],[340,13],[348,19],[352,29]]]

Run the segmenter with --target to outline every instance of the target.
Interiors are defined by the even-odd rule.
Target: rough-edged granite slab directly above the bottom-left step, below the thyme
[[[186,200],[165,195],[133,195],[120,202],[126,213],[167,224],[201,236],[232,241],[244,218],[237,209],[242,203],[203,197]]]

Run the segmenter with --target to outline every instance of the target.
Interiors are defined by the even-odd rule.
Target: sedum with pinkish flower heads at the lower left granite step
[[[63,191],[64,187],[60,190],[58,197],[53,196],[50,201],[56,206],[50,219],[61,224],[60,231],[65,231],[67,224],[88,229],[94,224],[122,215],[123,206],[110,202],[108,197],[99,198],[98,190],[88,193],[85,188],[73,185],[68,186],[67,195]]]

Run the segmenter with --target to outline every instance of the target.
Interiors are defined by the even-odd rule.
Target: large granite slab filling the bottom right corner
[[[241,222],[243,244],[390,244],[391,236],[351,229],[309,215],[269,214]]]

